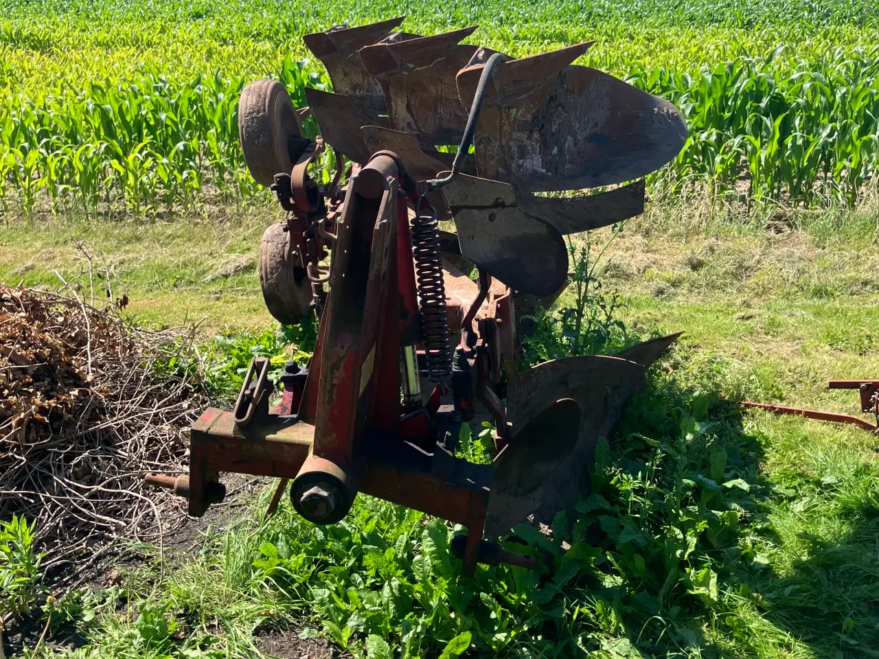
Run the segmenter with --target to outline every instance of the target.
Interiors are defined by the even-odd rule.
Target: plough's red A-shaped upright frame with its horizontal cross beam
[[[372,173],[363,176],[368,168]],[[270,415],[239,427],[232,413],[207,409],[191,433],[189,513],[198,517],[207,510],[208,483],[220,472],[292,479],[303,466],[339,468],[357,491],[466,525],[462,574],[472,576],[489,484],[443,479],[429,468],[386,457],[408,450],[400,436],[400,346],[418,340],[418,300],[406,195],[396,185],[401,172],[393,158],[381,155],[368,168],[352,181],[345,200],[348,213],[343,210],[333,250],[330,298],[298,420]],[[367,236],[372,236],[368,249],[362,243]],[[356,279],[365,272],[363,289]],[[366,431],[385,457],[361,454]]]

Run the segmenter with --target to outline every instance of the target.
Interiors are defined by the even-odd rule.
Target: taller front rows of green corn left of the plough
[[[301,105],[301,63],[287,61],[279,73]],[[86,215],[104,206],[188,207],[206,192],[228,198],[258,192],[238,144],[245,83],[219,74],[170,83],[151,71],[115,84],[89,83],[62,98],[9,99],[0,127],[4,210],[14,195],[31,212],[40,192],[53,210],[76,207]]]

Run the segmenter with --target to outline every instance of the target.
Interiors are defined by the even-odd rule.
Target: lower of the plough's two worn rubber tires
[[[287,256],[285,222],[265,229],[259,242],[259,286],[275,320],[294,325],[311,314],[311,282],[294,250]]]

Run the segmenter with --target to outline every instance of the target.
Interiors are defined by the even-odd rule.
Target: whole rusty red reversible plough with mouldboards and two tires
[[[590,44],[512,60],[461,44],[475,27],[421,37],[394,32],[401,23],[307,35],[333,85],[306,90],[309,109],[276,81],[244,88],[245,163],[287,212],[260,244],[263,298],[280,322],[316,315],[316,345],[275,380],[255,358],[234,409],[193,425],[189,474],[147,481],[200,516],[225,496],[225,472],[279,478],[270,510],[289,487],[316,524],[378,496],[466,526],[451,546],[464,575],[477,562],[530,568],[535,556],[496,540],[588,495],[598,439],[679,335],[519,373],[517,301],[551,304],[567,286],[563,235],[643,212],[632,179],[671,160],[686,126],[664,101],[572,64]],[[316,140],[303,136],[309,112]],[[327,148],[337,170],[318,185],[309,171]],[[455,454],[462,425],[483,419],[488,465]]]

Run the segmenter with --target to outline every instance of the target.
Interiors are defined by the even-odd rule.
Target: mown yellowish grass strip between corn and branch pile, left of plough
[[[279,220],[274,205],[256,204],[169,222],[76,215],[15,221],[0,228],[0,279],[25,286],[85,281],[81,293],[89,296],[84,273],[91,267],[96,297],[106,297],[109,274],[115,297],[127,295],[124,312],[147,326],[198,324],[203,337],[265,327],[272,317],[259,296],[257,246]]]

